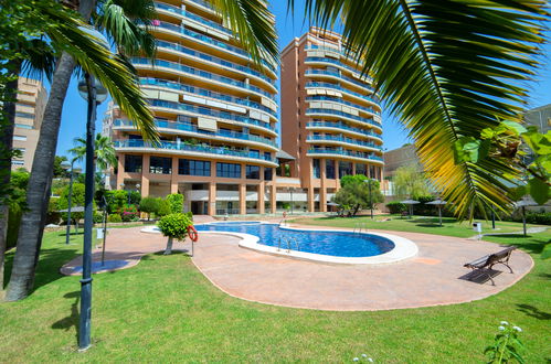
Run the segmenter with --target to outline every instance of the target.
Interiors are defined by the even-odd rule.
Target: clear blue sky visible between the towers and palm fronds
[[[276,17],[279,50],[283,50],[294,38],[298,38],[308,31],[309,24],[304,22],[304,0],[296,0],[295,14],[287,13],[287,0],[273,0],[272,11]],[[551,39],[551,33],[549,34]],[[529,108],[551,104],[551,44],[543,50],[543,67],[537,75],[537,82],[531,83]],[[84,136],[86,125],[86,103],[76,90],[77,81],[73,79],[65,105],[63,108],[62,125],[57,142],[57,156],[67,156],[67,150],[73,148],[73,140]],[[47,86],[46,86],[47,87]],[[279,97],[279,95],[278,95]],[[107,109],[107,101],[99,105],[97,110],[96,130],[102,130],[102,119]],[[392,150],[400,148],[406,142],[407,131],[400,124],[400,119],[389,115],[383,104],[383,149]]]

